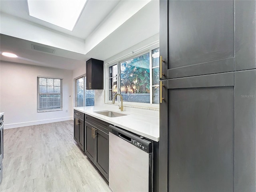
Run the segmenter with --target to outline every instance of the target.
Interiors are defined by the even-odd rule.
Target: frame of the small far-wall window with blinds
[[[60,93],[39,93],[39,79],[40,78],[46,78],[46,79],[58,79],[60,80]],[[36,78],[36,84],[37,84],[37,109],[36,111],[38,113],[41,113],[41,112],[51,112],[51,111],[62,111],[63,110],[63,78],[60,78],[60,77],[48,77],[48,76],[37,76]],[[53,86],[54,87],[54,86]],[[60,95],[60,108],[54,108],[54,109],[44,109],[44,110],[40,110],[39,109],[39,96],[40,95]]]

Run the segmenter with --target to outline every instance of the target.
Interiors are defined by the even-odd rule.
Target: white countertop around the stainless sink
[[[136,112],[118,110],[118,106],[114,105],[101,105],[101,106],[88,106],[88,107],[74,107],[75,110],[88,114],[92,117],[98,118],[102,121],[116,125],[120,128],[136,133],[145,138],[153,141],[159,141],[159,115],[149,115],[146,110],[136,110]],[[97,114],[97,111],[111,110],[118,113],[127,114],[120,117],[107,117]],[[125,110],[125,109],[124,109]],[[156,112],[159,114],[159,112]]]

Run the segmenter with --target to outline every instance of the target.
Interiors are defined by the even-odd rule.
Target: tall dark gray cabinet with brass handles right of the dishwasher
[[[160,0],[160,55],[159,191],[255,192],[256,1]]]

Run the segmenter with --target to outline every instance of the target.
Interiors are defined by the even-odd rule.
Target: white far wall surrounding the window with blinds
[[[71,70],[3,61],[0,65],[0,105],[1,112],[4,112],[4,128],[72,120]],[[37,112],[37,76],[63,78],[62,111]]]

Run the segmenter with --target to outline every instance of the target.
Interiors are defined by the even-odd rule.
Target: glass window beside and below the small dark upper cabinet
[[[94,106],[94,90],[86,90],[86,77],[76,79],[76,107]]]

